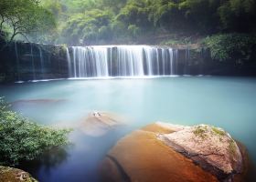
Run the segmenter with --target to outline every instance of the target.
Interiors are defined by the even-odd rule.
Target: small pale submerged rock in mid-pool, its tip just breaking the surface
[[[95,111],[84,119],[80,129],[88,136],[103,136],[117,126],[123,126],[122,117]]]

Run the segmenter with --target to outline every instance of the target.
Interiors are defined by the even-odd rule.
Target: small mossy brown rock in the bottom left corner
[[[21,169],[0,166],[1,182],[37,182],[31,175]]]

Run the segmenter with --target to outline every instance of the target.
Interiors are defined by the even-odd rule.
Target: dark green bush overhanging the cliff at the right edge
[[[255,51],[256,35],[222,34],[212,35],[204,40],[210,48],[213,59],[220,61],[236,61],[241,64],[251,60]]]

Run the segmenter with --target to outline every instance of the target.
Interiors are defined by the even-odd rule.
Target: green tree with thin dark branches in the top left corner
[[[53,15],[40,6],[37,0],[1,0],[0,9],[0,31],[10,33],[9,42],[16,35],[27,39],[27,35],[36,32],[43,34],[56,26]]]

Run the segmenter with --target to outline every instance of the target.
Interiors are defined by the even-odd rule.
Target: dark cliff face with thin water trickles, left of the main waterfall
[[[0,80],[27,81],[68,77],[66,47],[12,43],[0,49]]]

